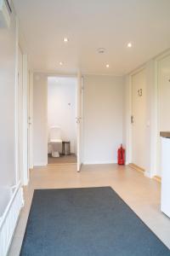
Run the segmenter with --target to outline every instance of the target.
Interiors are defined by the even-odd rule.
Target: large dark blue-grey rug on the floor
[[[110,187],[35,190],[20,256],[167,256]]]

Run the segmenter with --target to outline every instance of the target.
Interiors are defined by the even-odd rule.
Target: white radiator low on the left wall
[[[8,189],[11,196],[9,197],[6,207],[4,207],[3,201],[3,211],[1,209],[0,215],[0,256],[6,256],[8,253],[8,249],[14,235],[14,229],[20,215],[20,209],[24,205],[23,189],[20,187],[20,184]]]

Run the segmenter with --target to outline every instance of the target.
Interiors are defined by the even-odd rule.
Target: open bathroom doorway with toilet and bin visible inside
[[[77,163],[77,78],[48,77],[48,165]]]

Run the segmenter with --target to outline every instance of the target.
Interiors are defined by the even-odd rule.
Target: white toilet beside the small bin
[[[52,157],[59,157],[59,151],[62,148],[62,140],[59,126],[52,126],[50,128],[49,144],[51,145]]]

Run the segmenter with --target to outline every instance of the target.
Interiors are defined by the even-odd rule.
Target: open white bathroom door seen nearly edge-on
[[[82,75],[77,74],[77,172],[82,167]]]

